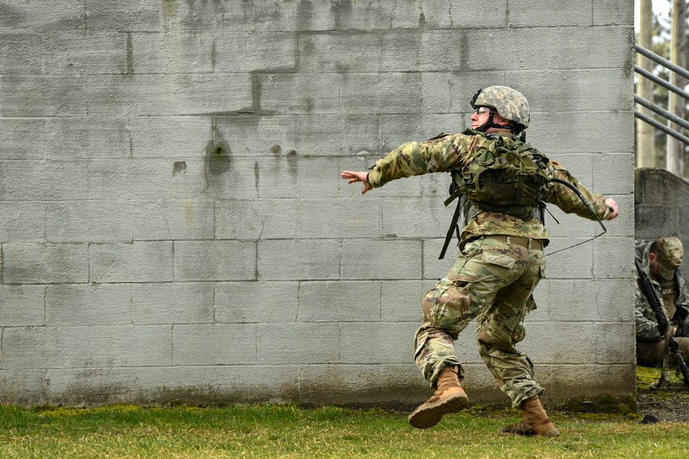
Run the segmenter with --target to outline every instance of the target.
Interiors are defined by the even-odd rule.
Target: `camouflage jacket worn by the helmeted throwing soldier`
[[[383,186],[391,180],[412,175],[421,175],[431,172],[459,171],[466,173],[472,153],[488,142],[495,142],[491,136],[502,134],[489,134],[481,136],[464,131],[462,134],[448,134],[446,136],[426,140],[426,142],[409,142],[395,148],[386,156],[376,162],[369,171],[369,183],[374,188]],[[506,136],[513,142],[516,137]],[[601,220],[605,220],[612,213],[605,204],[603,195],[591,193],[579,181],[574,178],[559,163],[548,163],[551,176],[570,182],[582,192],[582,195],[590,202],[591,206]],[[595,220],[595,217],[586,208],[582,200],[567,186],[559,183],[549,184],[545,202],[555,204],[566,213],[575,213],[581,217]],[[480,235],[501,234],[532,237],[544,239],[544,245],[548,243],[548,232],[536,218],[522,219],[513,215],[495,212],[480,212],[472,217],[462,230],[462,240],[471,239]]]

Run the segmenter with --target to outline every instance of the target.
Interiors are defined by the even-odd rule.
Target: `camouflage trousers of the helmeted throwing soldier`
[[[463,378],[454,341],[476,319],[479,354],[518,408],[543,392],[533,379],[533,364],[515,344],[526,336],[524,317],[536,306],[531,292],[544,277],[546,258],[542,250],[491,237],[471,239],[462,255],[422,300],[422,323],[414,337],[416,365],[431,387],[447,365],[459,365]]]

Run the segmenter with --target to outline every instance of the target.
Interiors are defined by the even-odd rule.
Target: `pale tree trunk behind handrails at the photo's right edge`
[[[686,1],[674,0],[672,6],[672,54],[670,61],[686,69]],[[684,89],[686,80],[675,72],[670,72],[670,83]],[[674,92],[668,92],[668,111],[684,119],[684,107],[686,101]],[[668,121],[668,127],[673,131],[684,130],[674,122]],[[684,171],[684,144],[674,137],[668,136],[668,149],[666,154],[666,169],[682,177]]]

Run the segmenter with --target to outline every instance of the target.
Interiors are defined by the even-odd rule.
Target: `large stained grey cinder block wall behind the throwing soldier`
[[[0,3],[0,399],[415,403],[449,177],[340,180],[461,131],[480,87],[617,199],[522,345],[551,399],[634,393],[633,4]],[[601,231],[553,211],[551,250]],[[502,400],[470,326],[473,401]]]

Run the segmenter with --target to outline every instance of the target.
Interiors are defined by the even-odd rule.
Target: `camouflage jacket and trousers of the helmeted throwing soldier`
[[[468,172],[474,153],[490,149],[495,136],[503,136],[507,145],[518,140],[504,134],[452,134],[405,143],[376,162],[369,171],[369,184],[377,188],[391,180],[433,172],[462,175]],[[602,195],[588,191],[557,162],[548,162],[547,168],[550,176],[577,186],[601,220],[611,215]],[[549,184],[544,201],[595,220],[579,197],[562,184]],[[446,365],[459,365],[462,378],[464,370],[455,355],[454,341],[475,318],[480,355],[513,406],[519,407],[526,398],[543,392],[533,379],[531,361],[515,344],[524,338],[524,317],[535,308],[531,292],[544,277],[545,257],[541,250],[507,245],[491,235],[529,237],[548,244],[548,232],[536,218],[486,211],[472,217],[462,230],[463,256],[422,301],[415,361],[431,386]]]

